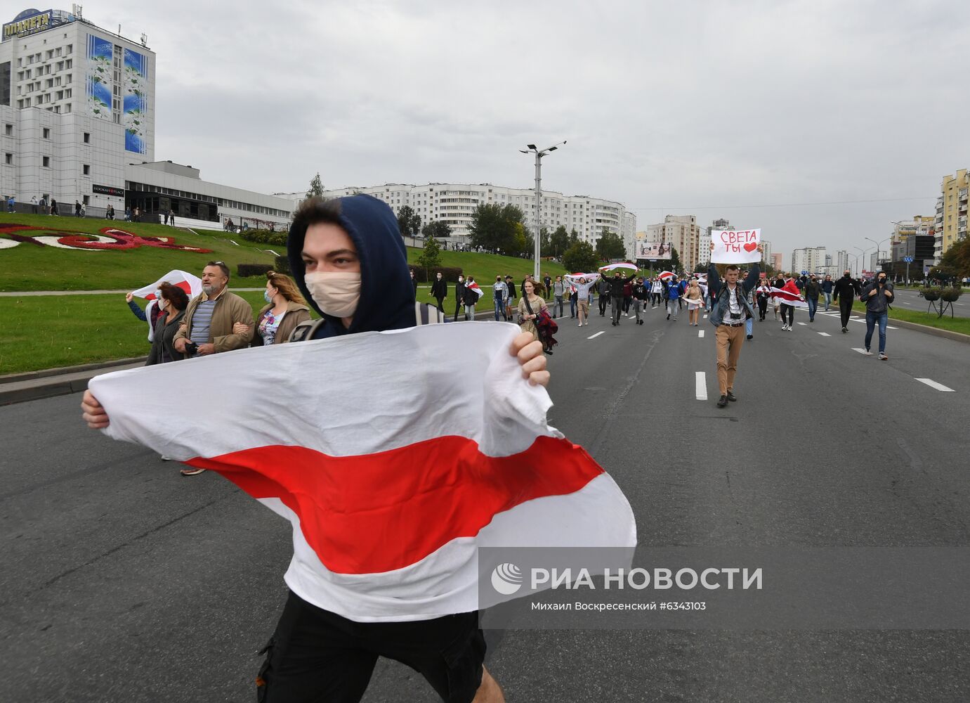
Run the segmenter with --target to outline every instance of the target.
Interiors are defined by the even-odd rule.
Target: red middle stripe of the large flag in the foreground
[[[253,498],[279,498],[339,574],[403,568],[474,537],[501,512],[573,493],[603,473],[582,447],[547,436],[499,457],[452,436],[362,456],[270,446],[185,463],[217,471]]]

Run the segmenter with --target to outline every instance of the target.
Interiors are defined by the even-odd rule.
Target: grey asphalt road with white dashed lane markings
[[[739,401],[720,410],[714,328],[686,317],[566,318],[550,357],[550,422],[624,489],[641,544],[970,546],[965,345],[889,330],[879,361],[854,351],[858,321],[844,335],[836,318],[797,324],[798,312],[783,332],[769,313],[742,351]],[[285,597],[288,524],[214,474],[180,478],[178,465],[87,430],[79,403],[0,408],[3,697],[252,700],[256,651]],[[488,639],[509,701],[970,700],[960,630]],[[436,697],[381,661],[365,700]]]

